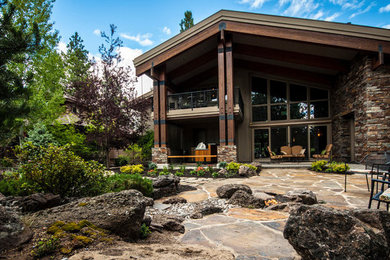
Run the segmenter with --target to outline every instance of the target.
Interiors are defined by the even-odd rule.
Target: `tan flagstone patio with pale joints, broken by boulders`
[[[305,169],[264,169],[260,176],[246,179],[181,178],[181,184],[198,189],[179,196],[188,202],[203,201],[217,197],[216,189],[228,183],[247,184],[254,192],[278,194],[304,188],[315,192],[325,206],[337,209],[366,208],[369,199],[365,175],[348,176],[348,192],[344,192],[344,175]],[[232,208],[203,219],[185,220],[186,232],[178,240],[185,244],[227,249],[236,259],[300,259],[283,238],[287,218],[287,212]]]

